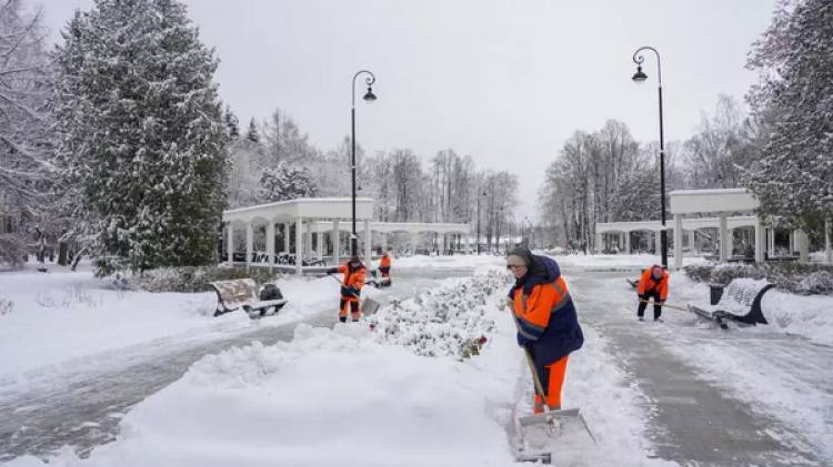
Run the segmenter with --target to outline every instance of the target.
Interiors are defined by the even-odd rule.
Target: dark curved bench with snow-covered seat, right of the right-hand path
[[[729,285],[709,284],[710,303],[689,304],[689,311],[726,329],[727,321],[755,325],[769,324],[761,311],[761,298],[774,284],[765,280],[735,278]]]

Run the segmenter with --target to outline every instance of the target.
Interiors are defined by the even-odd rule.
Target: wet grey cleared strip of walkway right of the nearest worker
[[[635,274],[564,272],[574,300],[581,304],[582,321],[604,333],[633,382],[649,398],[646,409],[653,414],[649,434],[655,446],[654,455],[699,466],[822,465],[801,439],[793,439],[790,445],[784,443],[789,437],[779,434],[786,435],[790,430],[779,420],[753,410],[705,380],[679,352],[669,347],[680,336],[713,339],[714,331],[692,326],[690,317],[668,316],[665,323],[636,321],[634,292],[624,281]],[[616,293],[620,290],[621,294]],[[646,315],[652,313],[649,307]]]

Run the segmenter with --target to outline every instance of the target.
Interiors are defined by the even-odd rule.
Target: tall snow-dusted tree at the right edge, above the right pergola
[[[782,1],[753,44],[747,94],[766,131],[746,172],[761,212],[807,226],[833,216],[833,2]]]

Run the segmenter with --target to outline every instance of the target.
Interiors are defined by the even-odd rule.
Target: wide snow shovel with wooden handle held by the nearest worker
[[[516,318],[513,316],[512,319],[518,327]],[[535,394],[544,402],[544,412],[518,417],[518,433],[521,440],[515,453],[518,460],[551,464],[558,460],[552,458],[553,453],[568,454],[574,449],[581,450],[583,447],[594,445],[595,437],[578,407],[550,408],[544,388],[535,372],[535,365],[532,363],[532,356],[525,346],[523,353],[532,372],[532,379],[535,382]]]

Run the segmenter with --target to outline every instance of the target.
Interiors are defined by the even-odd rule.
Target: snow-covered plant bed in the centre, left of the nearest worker
[[[416,355],[478,355],[494,328],[486,307],[502,302],[510,277],[504,272],[461,280],[415,298],[394,301],[371,316],[371,328],[381,343],[404,345]]]

